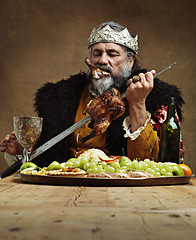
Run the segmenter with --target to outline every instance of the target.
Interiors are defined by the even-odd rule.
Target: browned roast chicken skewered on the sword
[[[111,122],[120,117],[125,111],[125,104],[120,97],[120,92],[111,88],[96,99],[92,100],[86,109],[91,116],[92,132],[86,137],[82,138],[81,142],[86,142],[92,137],[104,133]]]

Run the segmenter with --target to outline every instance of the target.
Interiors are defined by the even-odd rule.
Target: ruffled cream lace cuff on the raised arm
[[[147,113],[147,119],[144,123],[144,126],[139,127],[135,132],[131,133],[131,120],[130,120],[130,116],[126,117],[123,121],[123,129],[125,130],[125,135],[124,137],[127,138],[129,137],[132,141],[135,140],[137,137],[139,137],[139,135],[141,134],[141,132],[145,129],[145,127],[147,126],[148,122],[151,119],[151,114],[149,112]]]

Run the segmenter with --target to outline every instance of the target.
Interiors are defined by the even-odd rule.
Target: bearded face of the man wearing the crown
[[[92,88],[102,94],[110,86],[121,87],[131,73],[134,60],[128,59],[124,49],[115,43],[96,43],[91,48],[91,61],[101,70],[110,72],[110,76],[92,79]]]

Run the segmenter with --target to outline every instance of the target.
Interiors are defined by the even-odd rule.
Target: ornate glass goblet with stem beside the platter
[[[43,118],[13,117],[14,132],[20,145],[24,148],[23,163],[29,161],[29,153],[42,131]]]

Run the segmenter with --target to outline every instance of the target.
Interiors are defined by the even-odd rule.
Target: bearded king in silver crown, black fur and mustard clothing
[[[106,22],[93,29],[89,37],[89,50],[91,62],[110,75],[96,79],[88,70],[87,73],[41,87],[35,96],[35,110],[44,122],[36,147],[84,118],[89,101],[111,87],[117,88],[120,93],[126,91],[125,112],[104,133],[85,143],[80,139],[87,136],[91,129],[88,124],[84,125],[34,159],[34,162],[40,167],[48,166],[55,160],[64,162],[89,148],[101,149],[108,155],[157,160],[159,129],[166,119],[166,106],[171,96],[176,99],[178,119],[182,120],[184,101],[180,90],[153,78],[155,71],[140,68],[137,36],[133,37],[117,23]],[[140,77],[140,81],[133,83],[130,79],[135,75]],[[127,81],[130,83],[128,87]],[[12,154],[15,149],[14,153],[19,154],[21,147],[17,144],[14,135],[7,136],[1,144],[1,151]],[[181,161],[183,155],[181,143]]]

